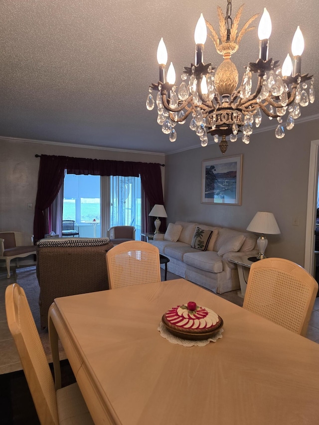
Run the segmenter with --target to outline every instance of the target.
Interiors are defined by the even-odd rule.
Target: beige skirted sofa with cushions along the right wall
[[[167,233],[171,227],[173,231]],[[206,251],[191,247],[197,227],[213,232]],[[169,224],[167,231],[150,241],[159,248],[160,254],[169,258],[167,270],[213,292],[223,293],[240,287],[237,266],[228,261],[232,254],[258,254],[257,236],[253,233],[182,221]]]

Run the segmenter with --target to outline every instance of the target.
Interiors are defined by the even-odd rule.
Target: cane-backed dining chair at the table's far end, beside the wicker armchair
[[[115,245],[106,253],[110,289],[160,282],[160,252],[142,241]]]

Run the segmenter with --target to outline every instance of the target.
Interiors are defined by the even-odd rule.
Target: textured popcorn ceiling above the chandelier
[[[232,17],[242,2],[232,1]],[[159,78],[160,37],[179,84],[183,66],[194,60],[197,19],[202,12],[218,29],[217,4],[225,13],[226,0],[1,0],[0,137],[163,153],[199,145],[188,123],[177,125],[177,140],[169,142],[145,103]],[[302,72],[315,74],[319,99],[318,0],[246,0],[239,27],[264,6],[273,27],[269,56],[281,63],[300,25]],[[240,80],[258,53],[256,29],[232,57]],[[208,38],[204,61],[221,61]],[[319,113],[317,99],[301,119]],[[266,126],[275,124],[263,117]]]

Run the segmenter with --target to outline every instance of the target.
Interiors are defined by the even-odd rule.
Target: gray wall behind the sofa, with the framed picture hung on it
[[[253,134],[248,145],[241,138],[228,142],[224,156],[243,154],[241,206],[201,203],[202,161],[223,156],[217,144],[167,155],[167,223],[185,220],[244,230],[257,211],[271,211],[281,234],[267,235],[266,255],[303,266],[310,145],[319,139],[319,120],[295,125],[281,140],[274,132]],[[292,224],[295,216],[299,226]]]

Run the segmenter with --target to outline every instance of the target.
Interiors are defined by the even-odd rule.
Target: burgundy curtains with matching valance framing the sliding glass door
[[[41,155],[38,174],[38,190],[35,201],[33,232],[35,241],[49,232],[46,210],[52,205],[64,179],[64,170],[69,174],[139,177],[142,185],[142,216],[148,216],[150,207],[163,205],[160,164],[156,162],[113,161],[109,159],[74,158],[70,156]],[[145,196],[143,196],[143,192]],[[145,201],[143,201],[145,199]],[[149,232],[149,220],[142,218],[142,232]],[[166,228],[166,219],[161,219],[160,230]]]

